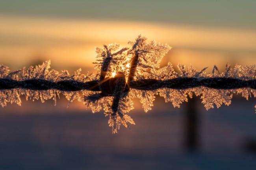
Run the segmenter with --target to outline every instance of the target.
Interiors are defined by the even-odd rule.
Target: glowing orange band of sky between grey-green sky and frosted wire
[[[139,34],[173,47],[163,65],[171,61],[201,69],[226,62],[256,64],[256,31],[249,29],[4,15],[0,23],[0,64],[12,70],[50,59],[55,69],[93,71],[96,46],[126,46]]]

